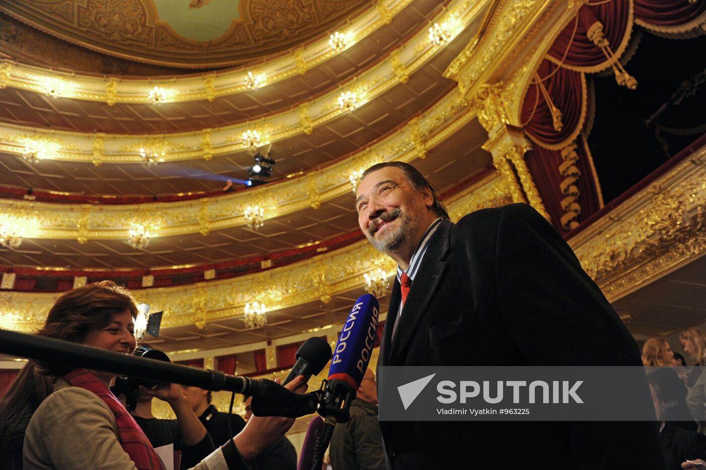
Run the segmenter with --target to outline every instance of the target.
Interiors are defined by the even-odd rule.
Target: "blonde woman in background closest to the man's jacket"
[[[647,368],[647,380],[657,384],[662,391],[664,421],[677,428],[695,431],[695,421],[683,421],[690,411],[686,406],[687,389],[676,373],[674,352],[669,342],[662,338],[647,339],[642,347],[642,363]]]

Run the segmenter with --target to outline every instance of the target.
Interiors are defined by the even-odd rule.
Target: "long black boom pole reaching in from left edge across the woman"
[[[74,368],[103,370],[116,375],[192,385],[206,390],[227,390],[255,397],[264,395],[289,404],[297,402],[297,394],[272,380],[234,377],[218,370],[178,366],[40,335],[0,330],[0,353]]]

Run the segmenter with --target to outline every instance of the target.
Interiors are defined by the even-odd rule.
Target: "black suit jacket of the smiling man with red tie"
[[[393,341],[399,304],[395,282],[378,366],[642,366],[599,287],[529,205],[441,222]],[[635,399],[651,406],[647,380]],[[395,470],[663,469],[656,422],[380,424]]]

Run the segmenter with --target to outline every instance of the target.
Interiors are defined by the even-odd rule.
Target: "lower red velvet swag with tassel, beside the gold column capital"
[[[558,70],[557,70],[558,68]],[[539,143],[549,147],[566,145],[575,138],[583,126],[585,118],[585,80],[582,73],[558,67],[544,59],[537,70],[547,94],[559,111],[561,111],[563,128],[556,131],[554,121],[549,111],[549,105],[544,100],[539,84],[530,85],[522,104],[522,122],[525,131]],[[549,78],[547,78],[549,77]]]

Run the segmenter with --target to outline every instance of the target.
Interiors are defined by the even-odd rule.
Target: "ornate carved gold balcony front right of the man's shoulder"
[[[706,146],[570,240],[610,301],[706,251]]]

